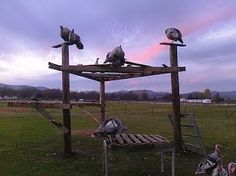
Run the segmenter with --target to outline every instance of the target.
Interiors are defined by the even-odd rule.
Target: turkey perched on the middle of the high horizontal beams
[[[121,46],[115,47],[111,52],[106,55],[105,63],[111,63],[113,66],[122,66],[125,63],[125,52]]]

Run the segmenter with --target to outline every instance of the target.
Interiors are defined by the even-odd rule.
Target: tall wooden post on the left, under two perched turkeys
[[[62,44],[62,66],[69,66],[69,46]],[[70,118],[70,78],[68,71],[62,71],[63,125],[69,130],[64,133],[64,154],[71,155],[71,118]]]

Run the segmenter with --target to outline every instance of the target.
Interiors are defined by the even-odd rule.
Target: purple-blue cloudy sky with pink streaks
[[[170,65],[164,31],[178,28],[180,92],[236,90],[235,0],[1,0],[0,83],[61,88],[59,26],[74,29],[83,50],[70,47],[70,64],[103,63],[122,46],[128,61]],[[99,90],[99,83],[70,76],[71,90]],[[106,82],[106,91],[171,91],[170,74]]]

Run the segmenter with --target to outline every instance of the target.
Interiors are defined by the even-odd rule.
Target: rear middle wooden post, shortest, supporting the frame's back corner
[[[100,103],[101,103],[101,108],[100,108],[100,124],[105,120],[105,81],[104,79],[101,79],[100,81]]]

